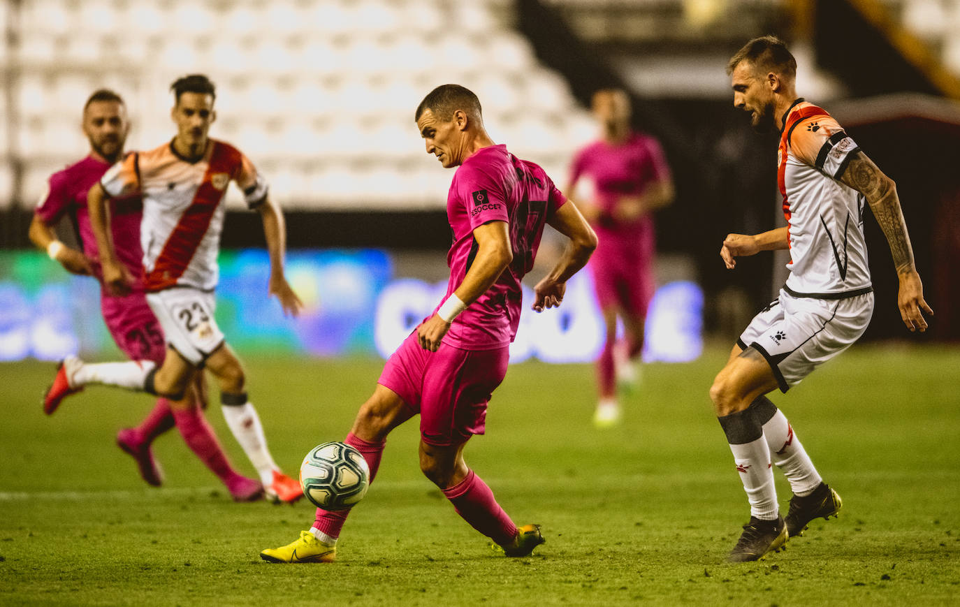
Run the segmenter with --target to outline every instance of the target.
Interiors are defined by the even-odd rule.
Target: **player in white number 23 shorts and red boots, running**
[[[166,336],[163,361],[90,364],[68,356],[47,392],[45,406],[56,407],[91,383],[179,399],[205,367],[220,385],[227,425],[259,473],[267,497],[294,501],[302,495],[300,483],[280,472],[267,449],[263,426],[247,398],[243,368],[213,316],[224,194],[231,181],[263,220],[270,253],[270,294],[285,313],[300,311],[300,299],[283,275],[283,214],[251,161],[228,143],[208,136],[216,118],[213,83],[194,74],[180,78],[171,89],[177,135],[154,150],[117,162],[87,194],[104,284],[115,293],[130,291],[132,276],[111,238],[107,202],[133,194],[143,198],[139,231],[143,281],[147,303]]]

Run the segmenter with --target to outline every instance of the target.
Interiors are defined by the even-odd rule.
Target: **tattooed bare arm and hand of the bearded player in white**
[[[846,170],[837,179],[863,194],[874,211],[876,223],[887,237],[890,255],[893,256],[900,279],[897,304],[903,324],[911,331],[926,330],[924,312],[932,315],[933,310],[924,301],[924,284],[914,265],[913,248],[900,209],[897,184],[859,150],[852,153]]]

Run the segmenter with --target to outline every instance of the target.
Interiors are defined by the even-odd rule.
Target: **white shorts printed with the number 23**
[[[192,364],[200,365],[224,343],[224,334],[213,318],[213,293],[175,287],[148,293],[147,304],[163,328],[167,346]]]

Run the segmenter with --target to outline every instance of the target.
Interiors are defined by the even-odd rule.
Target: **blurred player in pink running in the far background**
[[[656,290],[652,213],[673,202],[674,188],[660,144],[631,128],[627,93],[598,90],[592,106],[603,134],[574,158],[566,191],[572,193],[582,177],[594,183],[594,197],[582,206],[600,240],[589,270],[607,340],[597,359],[593,423],[608,427],[620,421],[617,377],[636,381],[631,361],[643,350],[643,324]],[[617,318],[626,332],[622,344],[616,341]]]

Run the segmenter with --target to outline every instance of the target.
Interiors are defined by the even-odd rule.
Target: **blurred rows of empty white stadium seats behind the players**
[[[423,153],[413,121],[435,85],[472,88],[494,139],[560,182],[594,133],[564,79],[511,29],[509,0],[17,4],[18,43],[0,61],[22,68],[10,84],[18,147],[0,158],[23,159],[14,197],[25,205],[84,153],[80,107],[94,88],[124,95],[128,148],[142,149],[174,133],[168,86],[191,72],[218,85],[211,134],[244,150],[288,207],[443,207],[451,174]],[[0,188],[8,173],[0,168]],[[228,204],[242,205],[236,192]]]

